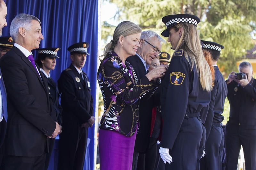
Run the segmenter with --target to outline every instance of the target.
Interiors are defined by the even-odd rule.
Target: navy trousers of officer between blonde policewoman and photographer
[[[200,159],[200,170],[221,170],[224,132],[220,123],[213,123],[205,144],[205,156]]]

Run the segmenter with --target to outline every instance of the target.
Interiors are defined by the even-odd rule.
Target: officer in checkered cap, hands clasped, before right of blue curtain
[[[68,47],[71,64],[63,70],[58,87],[61,93],[62,133],[60,134],[59,169],[82,170],[88,127],[92,127],[93,100],[89,79],[82,70],[89,44],[78,42]]]

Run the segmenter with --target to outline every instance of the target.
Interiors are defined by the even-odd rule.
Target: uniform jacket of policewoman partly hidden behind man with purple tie
[[[53,78],[47,78],[45,74],[43,75],[47,79],[49,97],[50,97],[50,100],[52,100],[53,107],[54,107],[53,109],[56,112],[57,121],[59,125],[62,125],[62,116],[61,116],[62,107],[60,106],[60,102],[59,102],[59,99],[60,99],[59,89],[57,87],[56,82],[53,80]]]

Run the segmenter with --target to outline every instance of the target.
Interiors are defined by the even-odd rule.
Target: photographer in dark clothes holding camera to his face
[[[231,72],[226,80],[230,104],[225,145],[227,169],[236,169],[241,145],[246,170],[256,168],[256,80],[249,62],[239,64],[240,73]]]

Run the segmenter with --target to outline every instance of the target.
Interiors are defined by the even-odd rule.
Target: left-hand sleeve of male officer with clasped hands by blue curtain
[[[61,105],[65,103],[63,108],[72,108],[72,113],[74,113],[81,123],[87,122],[91,115],[82,106],[81,101],[76,97],[75,85],[73,79],[67,71],[63,71],[58,80],[58,87],[61,93]]]

